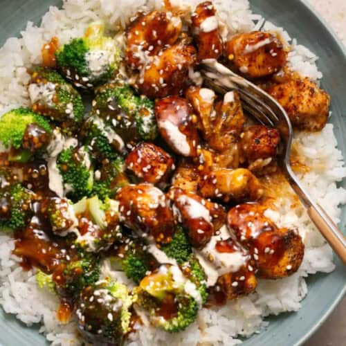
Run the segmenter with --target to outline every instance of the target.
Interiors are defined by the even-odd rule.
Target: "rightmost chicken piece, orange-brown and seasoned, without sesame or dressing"
[[[320,131],[325,127],[330,96],[309,78],[295,79],[268,89],[289,115],[294,127]]]

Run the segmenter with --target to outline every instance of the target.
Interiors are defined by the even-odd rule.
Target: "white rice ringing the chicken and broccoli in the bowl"
[[[28,22],[21,38],[10,38],[0,49],[0,115],[8,109],[28,105],[29,98],[24,84],[28,81],[26,67],[41,62],[42,44],[53,36],[60,43],[82,35],[90,21],[103,20],[109,28],[134,15],[145,3],[151,8],[160,8],[157,0],[66,0],[62,9],[51,7],[44,15],[41,26]],[[199,0],[174,0],[194,6]],[[264,23],[253,15],[247,0],[215,0],[219,16],[230,27],[230,34],[261,28],[279,31],[287,43],[289,35],[269,22]],[[264,24],[264,25],[263,25]],[[322,78],[316,67],[317,57],[304,46],[291,42],[289,66],[311,80]],[[304,162],[311,167],[307,174],[300,175],[303,185],[318,203],[329,212],[334,221],[339,221],[340,204],[346,203],[346,191],[337,188],[336,182],[346,176],[343,156],[336,148],[333,125],[327,125],[319,134],[295,134],[295,143],[300,147]],[[316,272],[333,271],[331,248],[311,224],[302,207],[291,209],[292,200],[278,199],[279,212],[272,217],[279,224],[298,227],[306,246],[304,260],[298,273],[283,280],[260,280],[256,292],[246,298],[228,302],[224,307],[203,309],[197,322],[181,334],[169,335],[152,327],[141,327],[131,336],[129,345],[237,345],[237,336],[251,336],[260,331],[267,322],[264,317],[284,311],[297,311],[300,301],[307,294],[304,277]],[[55,317],[57,298],[49,291],[39,289],[35,271],[23,271],[19,258],[12,255],[14,241],[7,235],[0,236],[0,304],[7,313],[30,326],[42,325],[40,331],[52,345],[80,345],[75,322],[62,325]],[[119,273],[113,272],[117,277]],[[120,280],[124,280],[119,274]],[[30,297],[30,300],[28,299]]]

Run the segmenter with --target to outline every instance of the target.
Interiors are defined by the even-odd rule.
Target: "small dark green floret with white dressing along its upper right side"
[[[90,147],[93,158],[102,161],[104,158],[114,160],[124,149],[124,143],[116,131],[98,116],[88,118],[80,131],[84,145]]]

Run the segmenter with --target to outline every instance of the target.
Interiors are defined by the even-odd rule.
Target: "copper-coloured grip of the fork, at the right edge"
[[[317,207],[318,208],[311,206],[307,209],[311,221],[313,221],[313,224],[320,230],[320,233],[322,233],[323,237],[325,237],[338,257],[346,264],[345,236],[341,233],[334,221],[327,215],[325,210],[319,205],[317,205]]]

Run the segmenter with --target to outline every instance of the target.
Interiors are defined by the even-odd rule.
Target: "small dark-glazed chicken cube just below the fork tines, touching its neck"
[[[247,127],[241,134],[239,147],[241,162],[248,164],[253,172],[266,172],[268,165],[275,163],[280,133],[277,129],[264,125]]]

